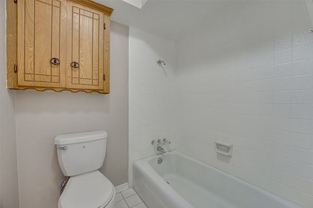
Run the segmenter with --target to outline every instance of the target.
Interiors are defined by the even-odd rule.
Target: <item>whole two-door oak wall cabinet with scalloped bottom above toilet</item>
[[[110,92],[112,9],[90,0],[7,0],[7,87]]]

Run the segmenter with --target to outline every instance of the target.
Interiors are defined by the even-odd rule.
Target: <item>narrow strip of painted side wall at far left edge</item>
[[[6,90],[5,1],[0,1],[0,208],[18,208],[15,93]]]

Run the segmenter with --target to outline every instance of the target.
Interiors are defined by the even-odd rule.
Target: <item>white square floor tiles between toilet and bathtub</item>
[[[114,208],[147,208],[133,188],[117,193]]]

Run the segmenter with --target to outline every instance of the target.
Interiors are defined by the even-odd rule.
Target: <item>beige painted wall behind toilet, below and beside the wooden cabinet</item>
[[[100,169],[114,186],[128,172],[128,27],[111,22],[110,94],[16,91],[20,208],[57,208],[58,134],[105,130],[107,153]]]

